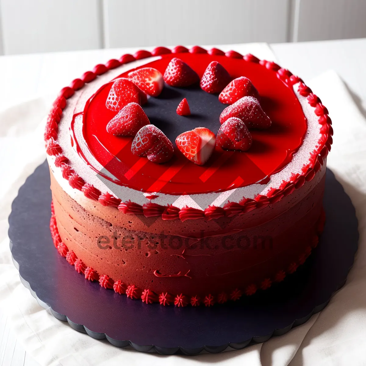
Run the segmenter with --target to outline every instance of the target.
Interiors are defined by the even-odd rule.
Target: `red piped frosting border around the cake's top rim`
[[[266,195],[257,195],[254,199],[244,198],[239,202],[227,202],[223,208],[216,206],[209,206],[205,210],[199,210],[191,207],[183,207],[179,209],[174,206],[160,206],[156,203],[146,203],[143,206],[127,201],[121,202],[120,199],[113,197],[109,193],[101,193],[94,186],[86,183],[71,167],[68,165],[68,158],[63,155],[61,146],[57,143],[58,124],[61,119],[62,111],[66,107],[67,99],[71,98],[76,90],[81,89],[85,83],[89,83],[102,75],[108,70],[112,70],[123,64],[132,61],[145,59],[147,57],[159,56],[168,53],[209,53],[210,55],[225,55],[232,58],[243,58],[247,62],[259,63],[268,70],[276,72],[276,75],[283,82],[288,85],[300,83],[298,92],[303,97],[307,97],[307,101],[311,107],[315,107],[314,113],[318,117],[318,122],[321,125],[321,137],[318,141],[318,147],[312,152],[311,160],[302,169],[302,174],[293,175],[288,182],[283,184],[278,189],[271,189]],[[333,128],[332,121],[328,115],[328,109],[321,103],[319,97],[312,93],[311,89],[303,83],[298,76],[292,75],[287,69],[281,68],[273,61],[259,60],[257,57],[251,55],[240,55],[236,51],[223,52],[217,48],[212,48],[209,51],[200,47],[193,46],[188,49],[184,46],[176,46],[173,49],[166,47],[156,47],[153,51],[139,50],[134,55],[122,55],[119,60],[112,59],[107,61],[105,65],[98,64],[92,71],[86,71],[81,78],[74,79],[70,86],[66,86],[60,90],[56,100],[53,102],[52,109],[48,114],[44,139],[46,142],[46,153],[55,156],[55,165],[61,169],[63,178],[67,179],[72,188],[82,191],[85,197],[98,201],[103,206],[116,207],[124,214],[143,214],[146,217],[161,216],[163,220],[214,220],[220,217],[232,217],[247,213],[255,208],[268,206],[269,204],[280,201],[283,197],[291,194],[295,189],[303,186],[305,181],[310,181],[315,174],[321,169],[324,158],[328,155],[333,142],[332,139]]]

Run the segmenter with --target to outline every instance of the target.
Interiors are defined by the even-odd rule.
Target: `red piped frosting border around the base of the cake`
[[[51,236],[53,239],[53,244],[57,248],[61,257],[66,258],[67,262],[70,265],[75,267],[75,270],[78,273],[82,273],[85,276],[85,279],[89,281],[99,281],[101,287],[105,289],[114,290],[117,294],[125,294],[127,298],[130,299],[141,299],[143,303],[152,304],[154,302],[159,302],[160,305],[175,305],[177,307],[185,307],[187,305],[191,306],[213,306],[215,303],[223,304],[229,300],[236,301],[239,300],[243,295],[251,296],[254,295],[258,290],[267,290],[273,283],[281,282],[285,279],[285,276],[291,273],[294,273],[299,265],[305,263],[307,257],[311,254],[311,250],[314,249],[319,242],[319,236],[324,228],[325,222],[325,213],[322,211],[318,221],[317,221],[317,235],[314,235],[312,242],[310,243],[305,253],[302,253],[296,262],[292,262],[287,269],[280,270],[276,273],[273,278],[265,278],[258,284],[250,284],[245,289],[235,288],[230,292],[221,292],[217,296],[213,296],[212,294],[208,294],[203,298],[200,298],[198,295],[195,296],[186,296],[184,294],[169,294],[168,292],[162,292],[161,294],[156,294],[150,289],[141,290],[134,284],[127,285],[122,280],[113,280],[108,275],[99,275],[96,270],[91,267],[87,267],[85,263],[76,257],[76,254],[73,251],[69,251],[67,246],[61,241],[59,231],[57,229],[55,211],[53,209],[53,202],[51,202],[51,220],[50,220],[50,230]]]

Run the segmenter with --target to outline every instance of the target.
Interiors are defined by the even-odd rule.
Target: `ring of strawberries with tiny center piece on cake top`
[[[206,93],[219,94],[223,104],[229,104],[220,115],[221,127],[216,135],[206,127],[196,127],[176,137],[180,152],[190,161],[203,165],[209,160],[215,146],[223,150],[246,151],[252,144],[248,129],[266,129],[271,125],[269,117],[260,105],[258,90],[245,76],[232,79],[217,61],[207,66],[200,79],[184,61],[173,57],[164,75],[152,67],[143,67],[118,78],[109,91],[106,107],[117,112],[107,124],[107,131],[116,136],[134,137],[131,151],[154,163],[165,163],[173,156],[173,145],[141,108],[149,97],[158,97],[164,82],[173,87],[188,87],[199,82]],[[147,95],[146,95],[147,94]],[[186,98],[178,105],[176,113],[189,116]]]

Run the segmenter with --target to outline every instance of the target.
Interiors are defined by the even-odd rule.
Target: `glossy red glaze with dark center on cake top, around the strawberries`
[[[205,93],[199,87],[172,88],[165,85],[161,95],[150,98],[143,109],[150,123],[171,139],[174,156],[164,164],[152,163],[131,153],[132,138],[117,137],[107,132],[107,123],[116,115],[105,107],[112,86],[110,82],[87,102],[83,113],[83,136],[91,154],[115,176],[113,182],[143,192],[173,195],[209,193],[267,183],[271,174],[291,161],[305,136],[307,122],[294,92],[277,78],[275,71],[243,59],[190,53],[163,55],[142,67],[154,67],[164,74],[172,57],[185,61],[200,77],[208,64],[216,60],[232,78],[249,78],[259,91],[262,109],[272,120],[272,126],[264,131],[250,131],[253,145],[249,151],[223,151],[216,147],[205,165],[196,165],[179,152],[175,138],[195,127],[207,127],[217,134],[220,113],[227,105],[221,104],[217,95]],[[176,114],[176,108],[184,97],[192,113],[186,117]]]

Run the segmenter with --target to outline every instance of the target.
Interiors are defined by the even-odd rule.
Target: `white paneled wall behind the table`
[[[366,37],[365,0],[0,0],[0,54]]]

